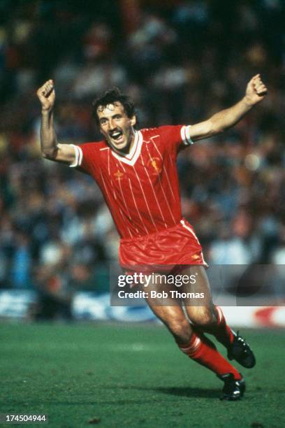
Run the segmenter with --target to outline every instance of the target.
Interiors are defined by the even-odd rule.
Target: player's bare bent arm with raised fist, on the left
[[[53,108],[54,108],[54,84],[52,80],[47,80],[37,92],[41,101],[41,152],[43,157],[56,162],[73,164],[75,162],[75,148],[69,144],[57,143],[57,136],[54,132]]]

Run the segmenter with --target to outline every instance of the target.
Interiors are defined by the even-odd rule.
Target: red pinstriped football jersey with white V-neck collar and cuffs
[[[163,126],[135,133],[128,155],[105,141],[76,145],[75,163],[101,188],[122,238],[137,238],[181,220],[177,152],[191,144],[189,126]]]

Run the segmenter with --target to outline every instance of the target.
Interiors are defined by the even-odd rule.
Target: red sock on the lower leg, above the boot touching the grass
[[[193,332],[189,345],[179,345],[179,347],[188,357],[214,371],[219,376],[233,373],[236,380],[242,378],[235,367],[217,351],[214,343],[203,334]]]

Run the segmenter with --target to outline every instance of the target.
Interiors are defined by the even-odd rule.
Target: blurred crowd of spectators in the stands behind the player
[[[191,124],[268,97],[178,159],[182,208],[214,264],[285,264],[282,0],[0,2],[0,287],[68,301],[108,289],[118,236],[89,176],[41,158],[37,88],[52,78],[61,142],[100,138],[92,100],[117,86],[139,127]]]

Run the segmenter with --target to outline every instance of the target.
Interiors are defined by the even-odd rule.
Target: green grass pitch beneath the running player
[[[45,413],[49,423],[40,426],[48,428],[87,427],[94,418],[106,428],[285,426],[282,330],[242,330],[258,364],[240,368],[247,393],[233,403],[219,401],[221,381],[156,324],[0,329],[0,413]]]

